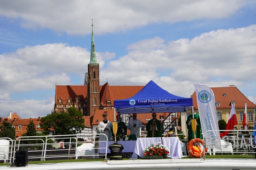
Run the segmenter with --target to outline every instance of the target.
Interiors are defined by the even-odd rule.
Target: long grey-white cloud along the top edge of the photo
[[[68,34],[90,34],[94,19],[97,34],[127,31],[151,23],[224,18],[238,12],[247,1],[115,1],[44,0],[2,1],[0,15],[19,18],[25,28],[49,28]],[[248,2],[247,2],[248,3]]]

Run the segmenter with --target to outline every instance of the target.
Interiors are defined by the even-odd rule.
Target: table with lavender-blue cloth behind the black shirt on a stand
[[[105,154],[105,148],[108,148],[107,153],[110,153],[109,146],[112,145],[113,143],[114,141],[108,141],[108,146],[106,147],[106,141],[100,141],[99,148],[102,149],[99,149],[99,153]],[[124,149],[122,150],[122,152],[133,152],[136,140],[117,141],[117,143],[123,145]]]

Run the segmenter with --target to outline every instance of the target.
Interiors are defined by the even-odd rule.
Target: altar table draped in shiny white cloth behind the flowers
[[[143,149],[150,145],[151,142],[161,142],[161,138],[138,138],[130,159],[144,158]],[[183,158],[179,137],[162,137],[162,144],[169,148],[169,158]]]

